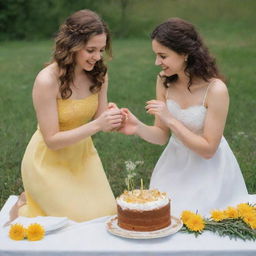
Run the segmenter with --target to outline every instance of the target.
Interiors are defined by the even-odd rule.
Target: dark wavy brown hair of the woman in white
[[[185,73],[189,77],[188,89],[196,77],[206,82],[213,77],[223,79],[223,76],[219,74],[215,59],[210,56],[208,48],[191,23],[180,18],[169,19],[154,29],[151,39],[178,54],[188,56],[185,67]],[[177,74],[161,77],[166,88],[178,80]]]

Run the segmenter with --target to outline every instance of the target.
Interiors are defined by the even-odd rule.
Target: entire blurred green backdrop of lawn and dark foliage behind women
[[[59,25],[85,8],[96,11],[112,32],[109,101],[148,124],[153,118],[144,106],[155,98],[159,72],[149,34],[170,17],[196,26],[226,77],[231,103],[225,137],[249,192],[256,193],[255,0],[0,0],[0,206],[23,190],[20,164],[36,129],[34,79],[51,59]],[[125,188],[125,161],[144,161],[135,183],[143,178],[147,186],[164,149],[118,133],[99,133],[94,142],[116,196]]]

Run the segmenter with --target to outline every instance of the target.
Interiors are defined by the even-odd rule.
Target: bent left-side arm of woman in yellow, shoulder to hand
[[[61,149],[99,131],[115,129],[121,124],[121,111],[111,109],[105,112],[101,111],[95,120],[87,124],[72,130],[60,131],[56,102],[57,95],[57,79],[44,69],[35,80],[33,104],[44,141],[50,149]],[[99,104],[102,106],[101,102]]]

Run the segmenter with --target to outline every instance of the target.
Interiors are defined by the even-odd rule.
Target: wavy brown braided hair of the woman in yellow
[[[55,39],[52,62],[56,62],[60,70],[59,90],[63,99],[69,98],[72,94],[70,86],[74,79],[76,52],[82,49],[91,37],[100,34],[106,34],[106,52],[111,56],[111,38],[108,26],[95,12],[77,11],[60,26]],[[99,91],[107,72],[103,58],[96,62],[93,70],[84,70],[84,72],[92,81],[90,91],[93,93]]]

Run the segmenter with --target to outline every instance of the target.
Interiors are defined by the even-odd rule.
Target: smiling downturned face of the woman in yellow
[[[106,34],[92,36],[85,46],[76,53],[76,64],[83,70],[91,71],[102,58],[106,47]]]

